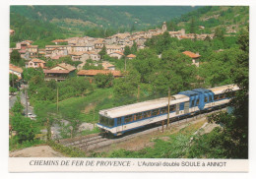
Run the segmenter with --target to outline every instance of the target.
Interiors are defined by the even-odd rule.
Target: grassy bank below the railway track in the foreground
[[[190,139],[192,135],[200,129],[205,121],[200,121],[195,124],[188,124],[181,130],[170,130],[160,135],[148,135],[151,142],[154,142],[153,147],[147,147],[139,150],[125,149],[110,150],[108,152],[93,152],[91,157],[126,157],[126,158],[182,158],[187,156],[187,149],[190,147]],[[146,137],[146,136],[145,136]],[[168,140],[163,140],[162,137],[168,137]],[[165,138],[166,139],[166,138]],[[149,141],[149,140],[144,140]],[[134,142],[135,143],[135,142]],[[122,144],[122,146],[125,146]]]

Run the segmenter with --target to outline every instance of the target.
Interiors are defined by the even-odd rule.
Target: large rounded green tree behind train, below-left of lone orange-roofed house
[[[172,93],[192,89],[195,83],[196,67],[191,65],[191,59],[174,50],[165,50],[161,56],[161,70],[152,74],[153,86],[157,93],[167,94],[168,88]]]

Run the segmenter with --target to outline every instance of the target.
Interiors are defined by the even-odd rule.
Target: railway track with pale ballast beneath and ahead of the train
[[[226,109],[224,108],[224,109],[214,110],[214,111],[210,111],[208,113],[198,114],[193,117],[188,117],[188,118],[184,118],[184,119],[181,119],[181,120],[178,120],[175,122],[171,122],[170,128],[184,124],[184,123],[188,123],[188,122],[192,122],[192,121],[196,121],[196,120],[205,118],[207,115],[221,111],[221,110],[226,110]],[[166,125],[163,126],[163,129],[166,130]],[[162,130],[162,126],[160,125],[160,126],[149,128],[149,129],[145,129],[145,128],[140,129],[138,131],[135,131],[132,134],[127,134],[127,135],[124,135],[119,138],[111,138],[111,139],[102,137],[102,136],[100,136],[99,133],[97,133],[97,134],[83,136],[83,137],[76,137],[73,139],[60,140],[59,144],[66,146],[66,147],[74,147],[74,148],[82,149],[85,151],[90,151],[93,149],[104,148],[104,147],[110,146],[115,143],[125,142],[125,141],[133,139],[135,137],[145,135],[145,134],[150,134],[152,132],[161,131],[161,130]]]

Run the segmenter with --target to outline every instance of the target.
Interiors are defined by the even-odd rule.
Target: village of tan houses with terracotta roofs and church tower
[[[204,29],[200,26],[199,29]],[[122,77],[122,72],[115,69],[115,65],[111,64],[104,59],[101,59],[99,52],[102,48],[105,48],[106,54],[109,57],[116,59],[134,59],[135,54],[124,55],[125,47],[132,47],[136,44],[137,49],[144,49],[147,39],[153,36],[160,35],[167,31],[166,23],[163,22],[161,29],[136,31],[136,32],[124,32],[117,33],[106,38],[95,38],[90,36],[85,37],[70,37],[67,39],[55,39],[52,42],[55,45],[45,45],[45,48],[38,48],[38,45],[32,45],[32,40],[24,40],[16,43],[15,48],[10,48],[11,54],[14,50],[18,50],[21,57],[26,60],[26,68],[42,68],[44,73],[44,80],[55,80],[57,82],[63,81],[70,76],[85,76],[94,77],[96,74],[109,74],[111,73],[114,78]],[[178,39],[191,39],[197,38],[198,40],[204,40],[207,36],[211,39],[214,37],[214,33],[211,34],[196,34],[186,33],[184,29],[177,31],[167,31],[170,37],[176,37]],[[10,30],[10,35],[14,35],[15,30]],[[192,60],[192,64],[199,67],[199,57],[197,52],[184,51],[183,54],[189,56]],[[58,60],[61,57],[70,56],[72,61],[81,62],[77,67],[66,63],[60,63],[52,68],[45,66],[43,59]],[[95,65],[102,65],[102,70],[83,70],[88,60],[95,61]],[[99,63],[97,63],[99,62]],[[77,73],[76,73],[77,72]],[[23,69],[10,64],[10,73],[15,74],[22,79]],[[75,74],[76,73],[76,74]]]

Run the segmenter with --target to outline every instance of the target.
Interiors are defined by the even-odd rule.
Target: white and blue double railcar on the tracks
[[[170,100],[168,97],[161,97],[99,110],[99,122],[96,125],[104,134],[121,136],[126,132],[165,121],[168,103],[169,119],[173,122],[182,117],[226,105],[238,89],[236,85],[192,89],[171,95]],[[227,94],[227,91],[231,95]]]

